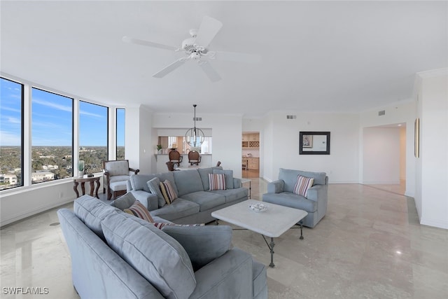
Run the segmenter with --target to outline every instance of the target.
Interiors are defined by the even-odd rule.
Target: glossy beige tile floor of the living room
[[[259,199],[266,181],[251,179]],[[269,298],[448,298],[448,230],[419,225],[412,198],[358,184],[330,184],[328,194],[326,216],[303,240],[298,229],[275,239]],[[6,295],[10,286],[78,298],[56,210],[1,228],[1,298],[33,298]],[[233,243],[269,264],[260,235],[234,230]]]

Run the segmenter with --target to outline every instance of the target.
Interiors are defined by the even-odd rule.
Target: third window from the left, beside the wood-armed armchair
[[[79,102],[78,164],[84,167],[78,170],[86,174],[102,172],[103,161],[108,160],[108,116],[109,109],[105,106]]]

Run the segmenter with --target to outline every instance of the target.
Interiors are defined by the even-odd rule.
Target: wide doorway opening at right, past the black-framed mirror
[[[405,123],[363,129],[363,183],[405,195]]]

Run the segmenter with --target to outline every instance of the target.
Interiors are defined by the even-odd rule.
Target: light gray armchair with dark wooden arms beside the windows
[[[138,174],[139,169],[129,167],[129,160],[103,161],[104,189],[107,190],[107,200],[116,200],[127,190],[127,181],[131,174]],[[103,192],[105,191],[103,189]]]

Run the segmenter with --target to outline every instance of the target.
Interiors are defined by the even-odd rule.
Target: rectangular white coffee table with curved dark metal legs
[[[267,211],[257,213],[249,208],[249,204],[258,203],[265,204]],[[238,225],[241,228],[258,232],[264,239],[265,236],[270,237],[271,242],[268,244],[266,239],[265,242],[271,251],[269,267],[274,267],[274,237],[283,235],[283,232],[299,223],[307,214],[307,211],[283,207],[279,204],[260,202],[260,200],[245,200],[230,207],[214,211],[211,213],[211,216]],[[302,224],[300,224],[300,239],[303,239]]]

